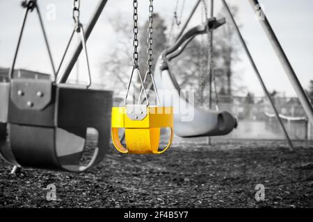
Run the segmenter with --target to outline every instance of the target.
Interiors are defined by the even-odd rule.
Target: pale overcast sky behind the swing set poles
[[[86,24],[93,12],[98,0],[81,0],[81,22]],[[154,10],[166,19],[170,26],[176,0],[154,0]],[[195,0],[185,0],[183,20],[186,18]],[[45,28],[51,45],[51,51],[56,65],[61,60],[65,44],[72,32],[72,0],[38,0],[42,15],[45,19]],[[182,0],[181,0],[182,2]],[[257,67],[264,77],[268,89],[276,89],[284,92],[287,96],[294,96],[287,76],[268,43],[266,36],[255,19],[254,12],[248,0],[228,1],[238,6],[239,15],[237,22],[242,24],[242,34],[248,43],[248,47],[254,56]],[[265,8],[265,13],[271,22],[273,29],[280,40],[284,51],[287,53],[291,65],[293,65],[300,83],[304,87],[313,80],[313,1],[312,0],[260,0]],[[49,20],[47,12],[51,12],[51,3],[56,6],[56,19]],[[19,6],[20,0],[0,0],[0,67],[10,67],[13,53],[17,43],[19,27],[22,22],[23,10]],[[139,20],[143,24],[147,19],[148,1],[139,0]],[[88,51],[93,71],[94,82],[99,81],[101,75],[100,64],[106,60],[116,43],[110,19],[122,15],[129,17],[132,23],[132,1],[131,0],[109,0],[102,12],[98,24],[88,40]],[[216,12],[220,10],[221,3],[216,0]],[[50,11],[49,11],[50,10]],[[200,24],[201,10],[192,19],[190,26]],[[50,66],[45,51],[42,35],[39,32],[38,19],[29,17],[24,38],[22,41],[17,68],[33,69],[49,72]],[[132,53],[132,52],[129,52]],[[237,74],[245,80],[245,85],[250,92],[262,96],[262,88],[255,74],[246,60],[246,55],[241,53],[241,62],[236,66]],[[83,62],[81,59],[80,64]],[[85,79],[86,67],[80,65],[80,78]],[[74,78],[72,75],[71,78]],[[109,81],[109,80],[108,80]]]

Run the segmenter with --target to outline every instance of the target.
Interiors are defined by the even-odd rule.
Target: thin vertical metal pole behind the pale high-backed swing
[[[210,8],[210,17],[214,16],[214,0],[211,0],[211,8]],[[213,73],[213,66],[212,66],[212,60],[213,60],[213,29],[209,31],[209,109],[212,108],[212,73]],[[216,92],[217,93],[217,92]],[[211,137],[207,137],[207,143],[211,145]]]

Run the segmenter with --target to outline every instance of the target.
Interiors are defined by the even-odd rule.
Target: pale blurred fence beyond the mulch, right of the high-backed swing
[[[220,96],[219,108],[239,119],[239,126],[225,137],[238,139],[284,139],[282,128],[265,97]],[[313,127],[298,98],[274,97],[291,139],[313,139]],[[313,101],[313,99],[311,99]]]

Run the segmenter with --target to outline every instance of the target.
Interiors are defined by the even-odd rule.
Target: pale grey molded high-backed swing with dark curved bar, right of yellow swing
[[[236,119],[229,112],[219,111],[217,105],[216,96],[216,111],[213,110],[202,110],[194,106],[194,101],[188,101],[186,95],[182,94],[182,89],[180,89],[179,84],[175,78],[175,75],[170,72],[169,62],[179,56],[180,53],[185,49],[187,44],[193,40],[196,35],[201,35],[206,33],[209,35],[209,53],[207,65],[209,65],[209,78],[210,78],[210,96],[211,96],[211,80],[212,78],[212,43],[213,43],[213,30],[225,23],[225,19],[216,19],[215,17],[208,18],[207,16],[207,5],[204,1],[205,10],[205,21],[202,26],[196,26],[184,33],[184,28],[191,19],[191,16],[187,20],[186,24],[179,33],[176,42],[168,47],[166,51],[161,53],[157,60],[157,65],[154,71],[154,78],[156,79],[157,86],[163,89],[163,99],[162,103],[164,105],[170,105],[174,103],[176,110],[175,113],[175,134],[180,137],[208,137],[208,136],[218,136],[226,135],[230,133],[233,128],[236,128]],[[198,6],[198,5],[197,5]],[[195,7],[197,8],[197,7]],[[193,8],[193,12],[195,11]],[[212,10],[213,12],[213,10]],[[175,13],[176,15],[176,13]],[[175,17],[176,19],[176,17]],[[201,64],[203,66],[203,64]],[[205,84],[206,76],[203,73],[203,68],[201,70],[202,83]],[[168,96],[170,95],[170,96]],[[217,95],[217,93],[216,93]],[[202,95],[200,95],[202,96]],[[211,101],[211,100],[210,100]],[[209,104],[209,108],[211,104]]]

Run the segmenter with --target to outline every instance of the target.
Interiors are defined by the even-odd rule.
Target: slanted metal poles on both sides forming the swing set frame
[[[99,19],[99,16],[101,15],[102,10],[104,9],[104,6],[106,6],[107,1],[108,0],[99,0],[99,3],[95,8],[95,12],[93,12],[93,15],[90,19],[90,22],[86,26],[86,40],[88,40],[90,33],[93,31],[93,28],[95,27],[95,24],[97,23],[97,20]],[[185,31],[186,27],[188,26],[191,18],[193,17],[193,14],[195,13],[195,10],[200,5],[201,1],[202,0],[198,0],[195,3],[195,6],[191,10],[190,15],[188,15],[186,22],[182,26],[182,30],[179,32],[177,39],[180,36],[182,36],[182,34],[184,33],[184,31]],[[285,71],[286,75],[288,76],[289,81],[291,82],[291,85],[294,87],[296,94],[300,100],[300,103],[303,106],[303,109],[305,110],[305,113],[307,114],[308,119],[310,120],[310,123],[313,124],[313,108],[312,108],[312,105],[310,104],[310,100],[307,98],[307,95],[305,94],[305,90],[303,89],[302,85],[300,84],[300,81],[298,80],[296,73],[294,72],[293,67],[291,66],[286,54],[284,53],[284,50],[282,49],[282,46],[280,45],[280,42],[279,42],[278,38],[276,37],[275,32],[273,31],[273,28],[271,28],[271,24],[268,22],[268,19],[265,15],[264,11],[262,10],[262,8],[258,7],[258,6],[260,6],[259,1],[257,1],[257,0],[248,0],[248,1],[250,2],[252,10],[256,10],[256,8],[258,8],[260,10],[260,12],[262,13],[263,19],[259,19],[259,22],[260,22],[260,24],[262,24],[262,27],[264,28],[264,32],[266,33],[268,40],[271,42],[271,45],[273,46],[273,49],[274,49],[276,55],[278,56],[282,67],[284,67],[284,71]],[[212,6],[211,7],[211,15],[213,15],[213,2],[214,2],[214,0],[211,0],[211,6]],[[255,64],[255,60],[252,58],[251,53],[248,49],[248,46],[247,46],[245,40],[243,40],[243,35],[241,35],[241,31],[239,30],[239,27],[236,24],[236,21],[234,20],[234,16],[232,15],[232,12],[230,11],[230,8],[228,7],[227,2],[225,0],[222,0],[222,3],[227,10],[227,14],[231,18],[231,22],[234,25],[234,28],[236,29],[236,34],[238,35],[239,40],[240,40],[241,44],[243,45],[243,48],[246,52],[246,55],[248,56],[248,59],[250,60],[250,63],[252,65],[253,69],[255,70],[255,74],[257,75],[257,78],[259,80],[260,85],[262,86],[264,94],[266,94],[268,101],[270,101],[270,103],[271,103],[271,106],[275,112],[275,117],[278,119],[278,121],[280,123],[280,126],[281,126],[282,131],[284,133],[284,136],[286,137],[286,140],[290,146],[290,149],[294,150],[294,146],[291,143],[291,139],[289,138],[287,130],[284,128],[284,125],[282,123],[282,120],[280,119],[278,110],[275,107],[275,104],[273,103],[273,99],[271,99],[271,96],[268,92],[268,89],[266,88],[264,80],[259,73],[259,69],[257,69],[257,65]],[[74,64],[75,64],[77,58],[79,58],[79,55],[80,55],[82,50],[83,50],[83,43],[81,41],[75,47],[74,52],[72,53],[72,56],[70,57],[70,60],[67,63],[65,71],[63,72],[63,74],[61,74],[58,77],[58,79],[56,81],[57,83],[65,83],[66,82],[68,76],[70,75],[70,71],[74,67]],[[211,84],[211,80],[210,80],[210,84]],[[211,87],[210,87],[210,91],[211,91]]]

